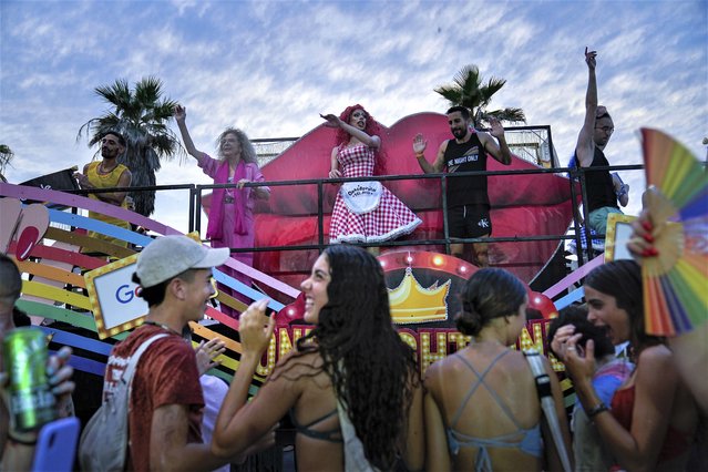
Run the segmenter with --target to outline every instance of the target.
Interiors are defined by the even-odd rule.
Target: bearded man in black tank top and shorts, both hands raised
[[[453,106],[447,112],[448,124],[454,140],[444,141],[438,150],[435,161],[425,160],[428,142],[418,133],[413,138],[413,152],[420,168],[425,174],[449,174],[486,171],[488,154],[504,165],[511,164],[511,151],[504,138],[504,127],[497,120],[490,121],[491,133],[474,132],[470,127],[470,111]],[[494,141],[499,140],[499,144]],[[448,178],[448,227],[451,238],[489,237],[492,234],[490,198],[486,175]],[[444,211],[444,208],[443,208]],[[472,244],[479,267],[489,266],[488,243]],[[464,245],[450,244],[450,253],[463,258]]]

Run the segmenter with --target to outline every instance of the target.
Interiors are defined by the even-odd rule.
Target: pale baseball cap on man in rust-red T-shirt
[[[228,247],[208,248],[186,236],[163,236],[137,256],[135,274],[143,288],[173,278],[188,269],[208,269],[228,259]]]

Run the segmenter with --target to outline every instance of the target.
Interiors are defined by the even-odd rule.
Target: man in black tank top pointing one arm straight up
[[[596,51],[585,48],[587,63],[587,93],[585,95],[585,122],[577,136],[575,157],[581,167],[608,166],[605,157],[605,146],[615,131],[612,116],[605,106],[597,105],[597,79],[595,76]],[[609,171],[593,171],[585,173],[587,192],[587,225],[598,234],[607,232],[607,215],[619,213],[619,206],[627,206],[629,201],[629,185],[622,182],[617,173]]]

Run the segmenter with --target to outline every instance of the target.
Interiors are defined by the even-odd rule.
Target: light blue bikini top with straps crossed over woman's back
[[[522,428],[512,414],[509,407],[502,401],[500,396],[490,386],[488,386],[486,382],[484,382],[484,377],[488,374],[488,372],[492,370],[494,365],[509,352],[511,351],[504,350],[499,356],[496,356],[481,374],[460,352],[456,352],[454,355],[462,360],[462,362],[476,376],[478,379],[476,382],[474,382],[470,388],[466,397],[458,408],[458,411],[455,412],[450,423],[450,428],[448,428],[448,448],[450,449],[450,453],[453,455],[456,455],[460,452],[460,448],[479,448],[476,459],[474,461],[474,470],[478,472],[492,470],[492,460],[489,455],[489,448],[519,449],[520,451],[535,458],[541,458],[543,455],[543,439],[541,438],[540,424],[536,423],[534,427],[529,429]],[[484,388],[490,392],[504,414],[506,414],[506,417],[517,428],[516,431],[493,438],[475,438],[472,435],[463,434],[454,429],[458,424],[458,421],[460,420],[460,417],[462,415],[462,412],[464,411],[464,408],[470,401],[470,398],[472,398],[480,386],[484,386]]]

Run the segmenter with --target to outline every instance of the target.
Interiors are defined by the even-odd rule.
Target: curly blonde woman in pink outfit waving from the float
[[[195,147],[187,130],[187,110],[177,105],[174,115],[182,133],[184,146],[189,155],[197,160],[202,171],[214,178],[215,184],[236,184],[236,187],[214,189],[206,230],[206,237],[211,239],[212,247],[254,247],[255,201],[256,198],[267,199],[270,196],[270,188],[265,186],[244,187],[244,184],[250,182],[265,181],[260,168],[258,168],[256,151],[250,141],[243,131],[234,127],[226,129],[218,137],[219,158],[215,160]],[[232,257],[253,266],[253,253],[234,253]],[[219,270],[250,287],[250,277],[226,266],[219,267]],[[242,301],[250,302],[247,297],[222,284],[218,289]],[[222,305],[222,311],[230,317],[238,317],[238,312],[227,306]]]

